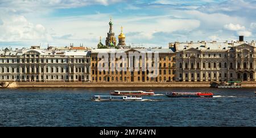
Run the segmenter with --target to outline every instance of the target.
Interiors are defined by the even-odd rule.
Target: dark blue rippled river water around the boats
[[[0,89],[0,126],[256,126],[256,89],[155,88],[143,101],[91,101],[113,90]],[[168,98],[166,92],[213,92],[213,98]]]

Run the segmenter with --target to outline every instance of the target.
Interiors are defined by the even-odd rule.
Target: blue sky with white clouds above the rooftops
[[[254,0],[0,0],[0,48],[31,45],[96,48],[109,20],[126,45],[256,40]]]

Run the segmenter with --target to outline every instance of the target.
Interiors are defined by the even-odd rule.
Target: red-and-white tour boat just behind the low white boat
[[[121,91],[115,90],[114,92],[110,93],[112,96],[154,96],[153,90],[147,90],[146,92],[142,90],[138,91]]]

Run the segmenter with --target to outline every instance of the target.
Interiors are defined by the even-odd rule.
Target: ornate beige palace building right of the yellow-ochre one
[[[175,42],[176,81],[256,81],[255,41]]]

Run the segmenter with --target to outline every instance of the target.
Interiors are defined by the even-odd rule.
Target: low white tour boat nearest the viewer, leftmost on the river
[[[142,101],[141,96],[93,96],[93,101]]]

